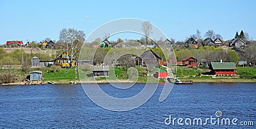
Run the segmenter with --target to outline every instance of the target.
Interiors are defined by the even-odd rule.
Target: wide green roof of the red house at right
[[[225,63],[211,63],[213,70],[234,70],[236,69],[235,63],[225,62]]]

